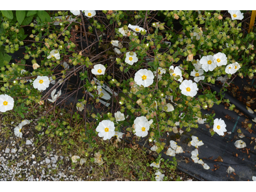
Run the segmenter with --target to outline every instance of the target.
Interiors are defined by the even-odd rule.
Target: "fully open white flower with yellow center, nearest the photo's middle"
[[[140,69],[138,72],[136,72],[134,81],[138,85],[143,85],[144,87],[148,87],[154,82],[154,74],[151,70],[147,69]]]

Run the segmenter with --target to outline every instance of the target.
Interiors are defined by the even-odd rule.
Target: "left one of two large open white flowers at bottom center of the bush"
[[[110,120],[102,120],[96,131],[99,132],[100,138],[103,137],[103,140],[110,140],[115,135],[115,125]]]

